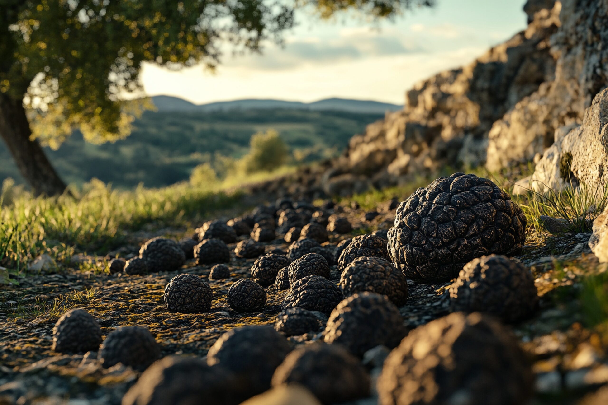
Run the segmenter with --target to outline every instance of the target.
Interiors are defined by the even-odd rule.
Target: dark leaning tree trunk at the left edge
[[[40,143],[30,139],[32,130],[21,100],[0,94],[0,135],[17,168],[36,196],[55,196],[66,189]]]

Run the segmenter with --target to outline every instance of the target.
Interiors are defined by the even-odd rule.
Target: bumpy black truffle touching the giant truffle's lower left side
[[[345,296],[370,291],[388,296],[395,305],[407,301],[407,279],[381,257],[357,257],[342,270],[340,288]]]

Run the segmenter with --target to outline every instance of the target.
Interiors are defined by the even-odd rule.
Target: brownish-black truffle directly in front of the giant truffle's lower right
[[[449,292],[452,310],[485,312],[505,322],[530,318],[538,305],[530,270],[496,254],[468,262]]]

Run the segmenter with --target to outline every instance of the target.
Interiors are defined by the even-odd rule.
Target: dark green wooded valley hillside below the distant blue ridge
[[[47,150],[64,180],[83,183],[93,177],[119,188],[139,183],[159,187],[188,179],[201,163],[217,166],[217,155],[238,158],[258,131],[276,129],[291,152],[305,162],[339,153],[350,137],[381,114],[295,109],[229,112],[146,112],[133,134],[116,143],[91,145],[74,134],[57,151]],[[0,180],[21,176],[0,144]]]

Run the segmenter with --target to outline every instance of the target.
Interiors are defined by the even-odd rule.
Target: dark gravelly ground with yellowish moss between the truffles
[[[389,207],[390,202],[380,204],[379,215],[366,220],[366,212],[357,206],[337,206],[336,211],[350,220],[354,230],[351,234],[330,234],[326,245],[333,249],[347,237],[388,229],[395,217],[395,209]],[[133,234],[119,254],[135,256],[139,245],[150,237],[178,239],[190,234],[192,230],[167,229]],[[576,403],[585,393],[608,383],[606,335],[587,327],[589,322],[581,307],[582,280],[598,268],[604,270],[587,247],[589,237],[581,233],[550,236],[542,243],[526,245],[520,256],[531,267],[541,296],[536,315],[513,325],[534,359],[536,404]],[[266,251],[286,251],[289,246],[283,239],[264,244]],[[161,344],[163,355],[205,356],[213,342],[231,328],[274,324],[287,291],[266,287],[266,305],[252,313],[237,313],[227,305],[228,288],[238,279],[252,278],[250,268],[255,261],[236,257],[235,245],[229,245],[230,277],[223,280],[208,280],[212,266],[197,266],[195,260],[189,260],[179,271],[129,276],[108,274],[103,257],[89,258],[91,265],[78,265],[83,258],[75,257],[71,267],[30,274],[20,280],[18,287],[4,287],[0,290],[0,404],[120,404],[138,372],[122,364],[103,369],[97,353],[61,355],[51,350],[52,328],[69,308],[81,307],[91,313],[103,335],[119,326],[145,326]],[[213,290],[209,312],[182,314],[167,310],[164,288],[178,273],[197,274],[209,282]],[[331,267],[331,281],[337,282],[339,277],[337,267]],[[415,328],[449,313],[448,285],[409,282],[409,298],[399,308],[407,327]],[[289,340],[298,345],[319,338],[320,332]],[[358,403],[373,404],[376,399]]]

